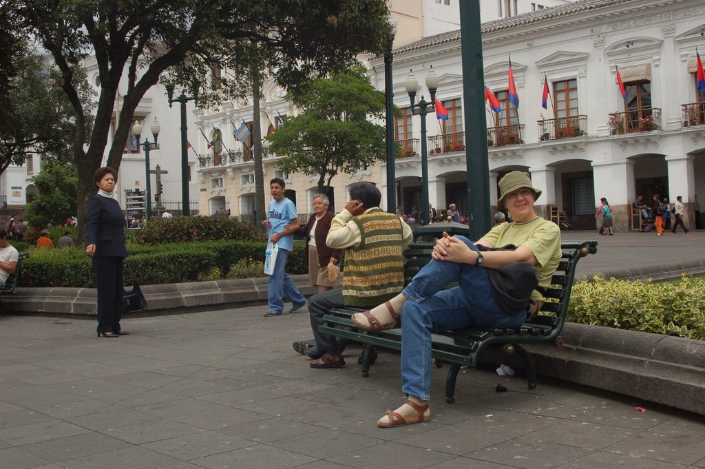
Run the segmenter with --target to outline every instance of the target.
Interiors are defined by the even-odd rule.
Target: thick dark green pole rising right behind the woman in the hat
[[[489,206],[489,162],[487,121],[484,106],[482,31],[479,1],[460,1],[460,47],[462,47],[462,93],[465,106],[465,162],[467,164],[467,207],[470,209],[470,239],[482,238],[491,228]],[[494,189],[494,188],[493,188]],[[496,190],[496,189],[495,189]]]

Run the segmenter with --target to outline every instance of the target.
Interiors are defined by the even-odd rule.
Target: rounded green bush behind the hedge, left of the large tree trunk
[[[59,225],[76,214],[78,175],[72,165],[45,161],[34,184],[37,193],[23,212],[30,226]]]

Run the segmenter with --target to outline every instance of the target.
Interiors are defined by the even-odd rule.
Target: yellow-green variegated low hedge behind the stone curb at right
[[[573,286],[568,321],[705,340],[705,279],[680,284],[651,280],[580,281]]]

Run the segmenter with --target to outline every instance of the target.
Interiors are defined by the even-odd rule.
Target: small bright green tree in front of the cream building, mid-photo
[[[331,178],[353,174],[384,155],[384,92],[375,90],[364,68],[315,78],[288,92],[303,112],[269,136],[269,151],[286,154],[276,165],[287,173],[318,175],[325,193]]]

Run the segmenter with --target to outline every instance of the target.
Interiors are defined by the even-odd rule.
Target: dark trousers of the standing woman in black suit
[[[123,258],[93,257],[98,288],[98,331],[117,332],[123,315]]]

